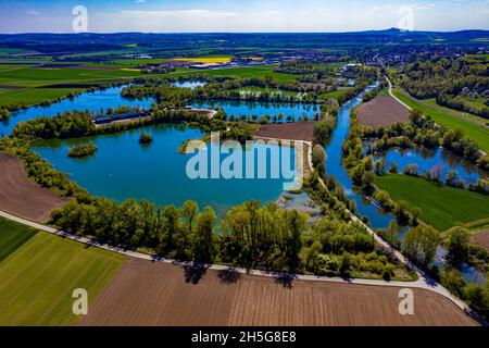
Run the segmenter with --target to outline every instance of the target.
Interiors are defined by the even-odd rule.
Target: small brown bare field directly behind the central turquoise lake
[[[312,141],[316,122],[265,124],[254,134],[256,137]]]

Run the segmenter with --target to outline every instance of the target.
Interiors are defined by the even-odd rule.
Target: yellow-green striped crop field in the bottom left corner
[[[32,234],[23,226],[0,226],[0,233],[13,228]],[[73,290],[86,289],[90,304],[124,260],[116,253],[37,233],[0,262],[0,325],[75,324],[79,316],[72,312]]]

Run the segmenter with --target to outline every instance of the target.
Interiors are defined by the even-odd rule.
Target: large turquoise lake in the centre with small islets
[[[142,132],[153,136],[150,146],[138,144]],[[133,197],[146,198],[159,204],[180,206],[185,200],[192,199],[201,208],[212,206],[223,215],[230,207],[247,200],[269,202],[277,200],[283,194],[285,181],[281,178],[190,179],[186,174],[186,166],[191,154],[180,154],[177,148],[185,140],[201,136],[202,133],[198,129],[163,124],[115,135],[49,140],[33,149],[90,194],[120,202]],[[67,157],[72,146],[83,144],[95,144],[98,151],[86,159]],[[256,154],[258,148],[259,146],[254,147]],[[293,167],[293,149],[287,149],[291,151],[290,165]],[[222,154],[221,158],[227,156]],[[269,158],[267,156],[267,165]],[[256,161],[258,156],[255,174]],[[244,170],[243,161],[243,173]]]

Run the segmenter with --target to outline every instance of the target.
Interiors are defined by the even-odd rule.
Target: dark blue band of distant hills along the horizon
[[[303,50],[365,45],[423,45],[487,47],[489,30],[462,30],[453,33],[404,32],[398,28],[356,33],[308,34],[0,34],[0,49],[22,49],[42,54],[61,55],[100,51],[183,51],[212,49],[223,52],[238,48]],[[130,47],[128,47],[130,46]]]

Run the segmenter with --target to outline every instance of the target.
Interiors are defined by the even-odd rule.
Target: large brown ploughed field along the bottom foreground
[[[398,288],[208,271],[188,282],[177,265],[129,259],[82,325],[476,325],[448,299],[414,289],[414,315],[399,314]]]

